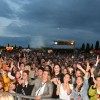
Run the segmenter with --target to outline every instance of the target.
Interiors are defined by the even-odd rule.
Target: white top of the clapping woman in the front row
[[[72,84],[69,84],[69,87],[70,87],[71,90],[73,89]],[[60,86],[59,98],[62,99],[62,100],[70,100],[70,95],[67,94],[67,89],[66,90],[63,89],[62,84]]]

